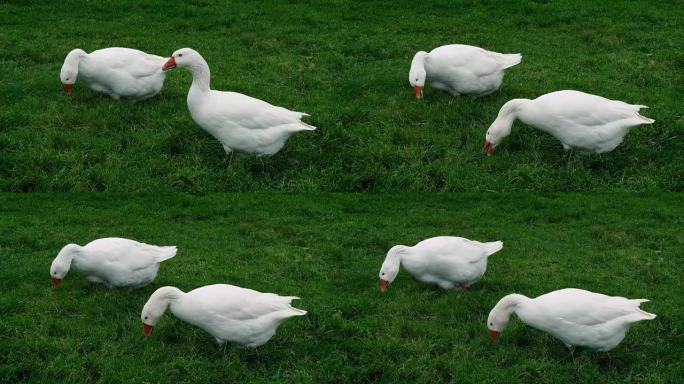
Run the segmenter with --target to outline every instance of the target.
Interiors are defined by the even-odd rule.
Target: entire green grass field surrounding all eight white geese
[[[681,381],[681,1],[106,3],[0,2],[0,383]],[[417,101],[411,58],[448,43],[523,61],[490,96]],[[109,46],[192,47],[213,88],[319,129],[273,157],[226,155],[192,121],[184,71],[145,102],[83,83],[67,97],[65,55]],[[482,154],[501,105],[561,89],[648,105],[656,123],[601,156],[516,123]],[[381,294],[387,250],[437,235],[505,247],[468,292],[402,271]],[[145,288],[75,271],[50,286],[62,246],[108,236],[179,253]],[[143,337],[156,288],[212,283],[297,295],[308,314],[256,350],[170,313]],[[610,354],[572,356],[518,320],[490,342],[498,299],[565,287],[648,298],[658,317]]]

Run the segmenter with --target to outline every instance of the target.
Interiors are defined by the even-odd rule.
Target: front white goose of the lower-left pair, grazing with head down
[[[206,285],[184,293],[176,287],[157,289],[143,307],[145,336],[166,309],[177,318],[208,332],[219,344],[226,341],[258,347],[273,337],[278,326],[306,311],[290,305],[295,296],[278,296],[227,284]]]

